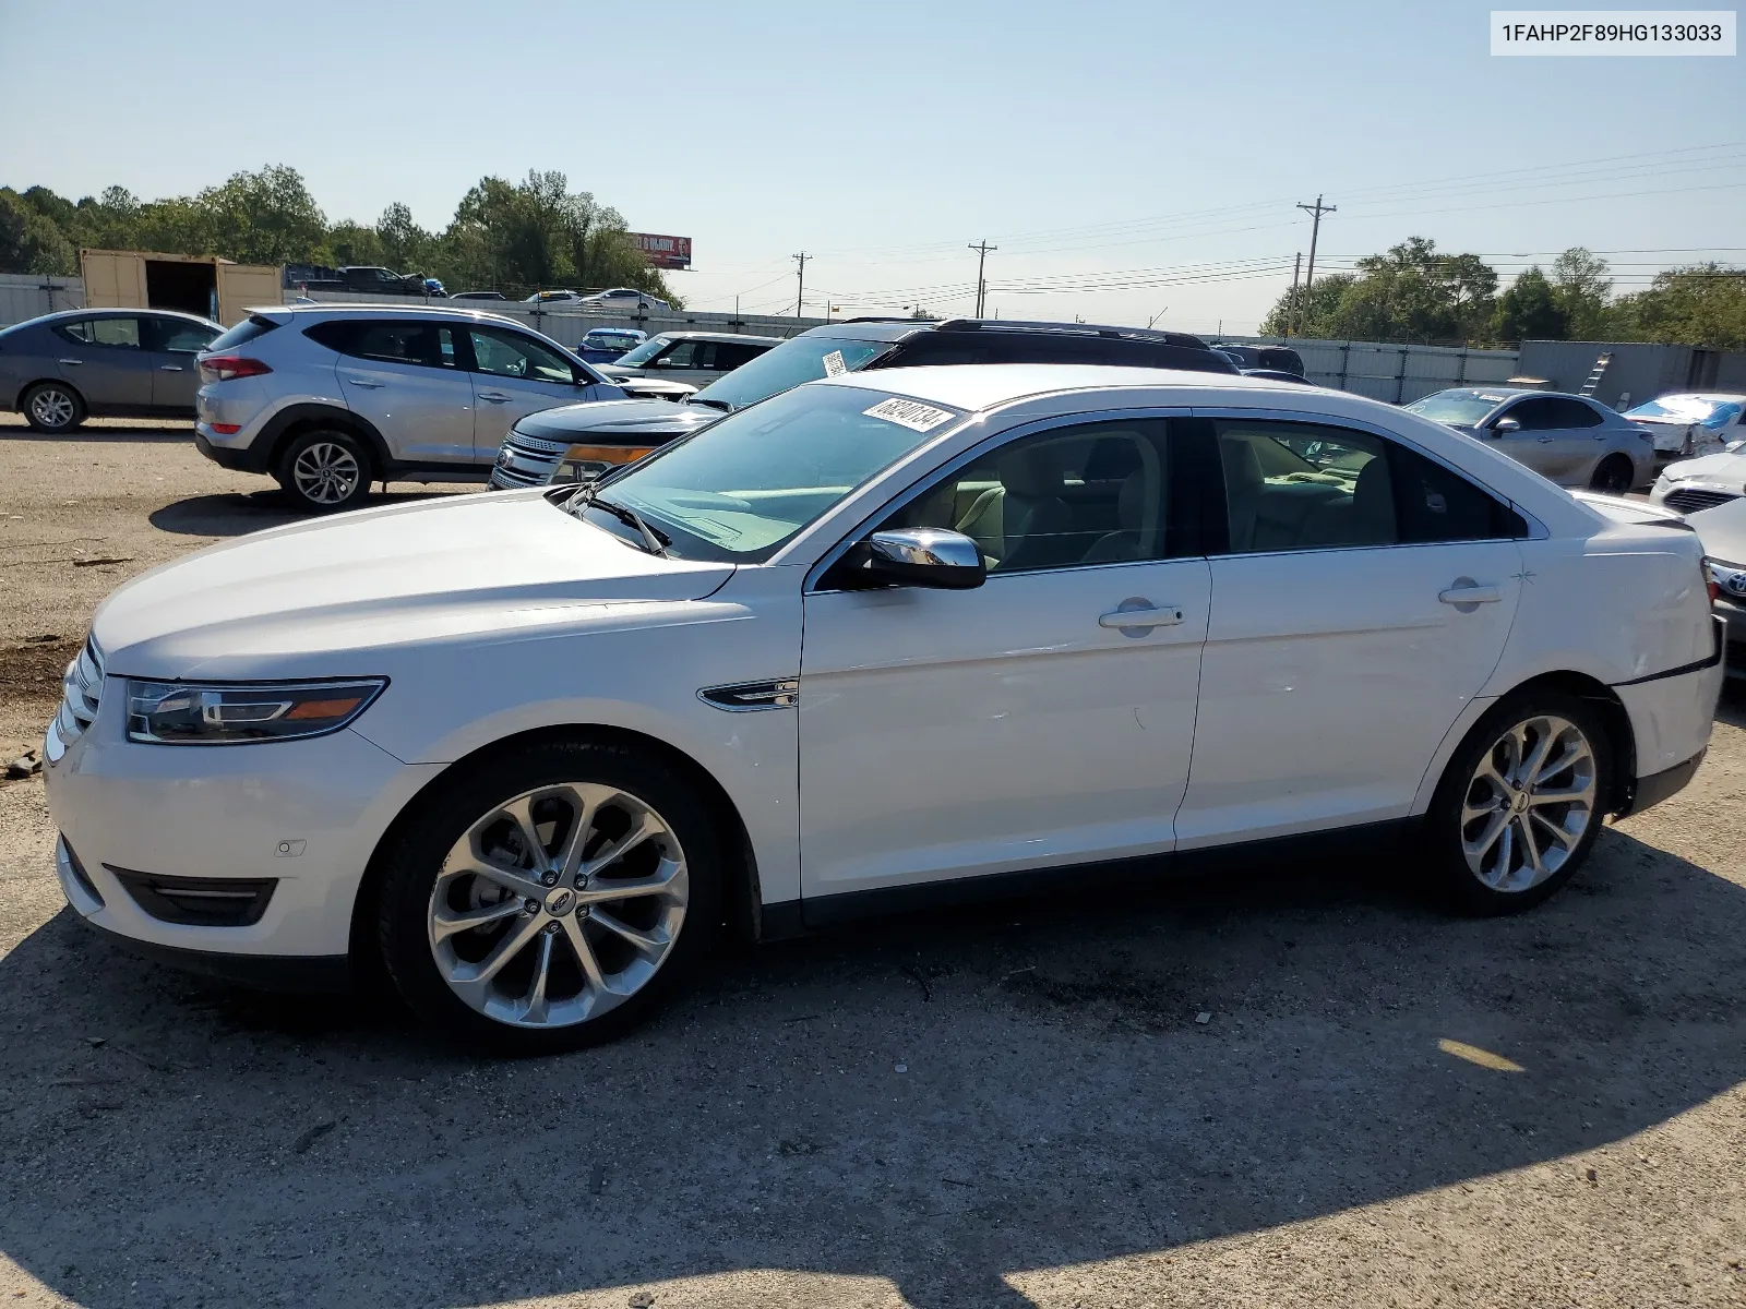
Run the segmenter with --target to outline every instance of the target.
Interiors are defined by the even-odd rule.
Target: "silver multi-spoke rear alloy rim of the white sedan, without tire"
[[[1481,757],[1461,801],[1461,855],[1491,890],[1556,876],[1594,822],[1594,747],[1547,714],[1509,728]]]

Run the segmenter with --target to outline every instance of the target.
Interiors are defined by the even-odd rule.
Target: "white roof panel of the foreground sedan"
[[[1322,394],[1320,387],[1275,382],[1266,377],[1205,374],[1187,368],[1121,368],[1098,363],[953,363],[931,368],[880,368],[876,372],[840,374],[810,382],[810,386],[894,391],[971,414],[1065,391],[1234,391],[1245,400],[1259,398],[1259,393],[1290,394],[1294,408],[1304,403],[1304,396]],[[1355,398],[1343,391],[1325,394]]]

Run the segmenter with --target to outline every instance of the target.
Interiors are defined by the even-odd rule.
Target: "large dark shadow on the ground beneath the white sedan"
[[[1414,871],[1124,899],[1069,873],[728,951],[615,1045],[498,1063],[389,1002],[138,963],[63,911],[0,960],[0,1250],[105,1309],[737,1269],[1018,1307],[1013,1272],[1580,1155],[1746,1079],[1739,885],[1617,829],[1516,918],[1451,918]]]

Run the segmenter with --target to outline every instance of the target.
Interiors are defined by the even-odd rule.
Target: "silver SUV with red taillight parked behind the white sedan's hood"
[[[194,443],[278,478],[304,510],[372,482],[484,482],[529,414],[625,387],[496,314],[388,305],[255,309],[201,356]]]

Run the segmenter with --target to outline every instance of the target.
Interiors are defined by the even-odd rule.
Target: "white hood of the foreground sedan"
[[[644,553],[543,494],[361,510],[225,541],[145,572],[93,620],[134,677],[381,672],[396,644],[485,644],[709,595],[732,564]]]

